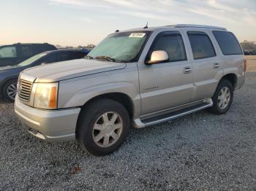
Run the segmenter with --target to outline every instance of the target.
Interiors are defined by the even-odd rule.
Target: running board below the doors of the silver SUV
[[[140,118],[138,118],[138,119],[135,119],[133,121],[133,123],[134,123],[135,128],[145,128],[150,125],[157,125],[160,122],[166,122],[169,120],[176,119],[178,117],[185,116],[187,114],[192,114],[194,112],[206,109],[211,106],[213,106],[213,102],[212,102],[211,98],[209,98],[207,101],[203,102],[202,104],[198,104],[196,106],[190,106],[188,108],[181,109],[176,112],[162,114],[157,117],[148,118],[146,120],[140,120]]]

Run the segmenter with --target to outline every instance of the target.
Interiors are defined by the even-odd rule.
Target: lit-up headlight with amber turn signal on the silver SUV
[[[34,95],[34,107],[56,109],[59,83],[38,83]]]

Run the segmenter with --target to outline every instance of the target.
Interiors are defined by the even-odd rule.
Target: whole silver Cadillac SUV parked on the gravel
[[[176,25],[116,31],[86,58],[26,69],[15,112],[47,141],[76,139],[107,155],[130,128],[208,108],[230,109],[246,62],[236,37],[215,26]]]

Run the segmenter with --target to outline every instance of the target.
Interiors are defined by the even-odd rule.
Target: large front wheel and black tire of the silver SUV
[[[118,149],[128,133],[127,109],[117,101],[104,98],[82,109],[78,117],[75,137],[84,151],[102,156]]]

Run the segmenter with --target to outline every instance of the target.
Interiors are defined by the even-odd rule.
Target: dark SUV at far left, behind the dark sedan
[[[51,44],[12,44],[0,47],[0,67],[14,66],[41,52],[57,50]]]

